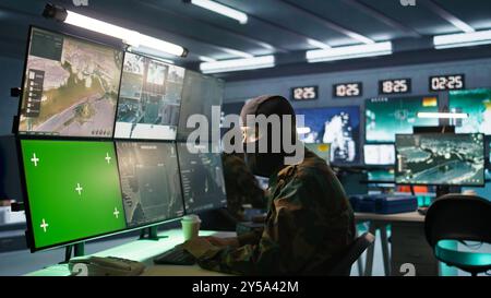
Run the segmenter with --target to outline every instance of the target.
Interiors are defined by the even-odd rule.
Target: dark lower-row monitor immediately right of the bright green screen
[[[176,144],[117,142],[116,148],[128,227],[184,214]]]

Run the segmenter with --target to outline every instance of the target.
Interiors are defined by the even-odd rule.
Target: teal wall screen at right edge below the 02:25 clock
[[[457,133],[481,132],[491,135],[491,88],[452,91],[448,95],[451,112],[464,112],[466,119],[452,119]]]

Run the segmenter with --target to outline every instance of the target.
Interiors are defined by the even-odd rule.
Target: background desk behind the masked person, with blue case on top
[[[438,276],[439,262],[424,236],[424,216],[418,212],[400,214],[356,213],[357,223],[369,222],[369,231],[375,235],[379,229],[382,240],[382,254],[385,275],[400,276],[400,266],[414,264],[416,275]],[[387,226],[392,227],[392,251],[388,250]],[[372,275],[374,246],[367,251],[366,276]],[[363,272],[359,262],[358,269]]]

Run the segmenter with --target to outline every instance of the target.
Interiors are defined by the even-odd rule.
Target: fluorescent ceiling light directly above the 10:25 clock
[[[349,47],[336,47],[331,49],[319,49],[307,51],[309,63],[355,59],[363,57],[375,57],[393,53],[392,43],[378,43],[373,45],[358,45]]]

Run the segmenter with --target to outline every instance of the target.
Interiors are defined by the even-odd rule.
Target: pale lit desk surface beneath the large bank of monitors
[[[175,246],[184,241],[181,229],[171,229],[159,233],[159,240],[135,240],[105,251],[94,253],[95,257],[117,257],[143,262],[147,267],[143,276],[223,276],[225,274],[211,272],[194,266],[154,265],[153,259]],[[200,231],[200,236],[215,236],[220,238],[235,237],[236,233]],[[165,238],[166,237],[166,238]],[[63,255],[60,255],[60,259]],[[68,264],[49,266],[27,276],[69,276]]]

